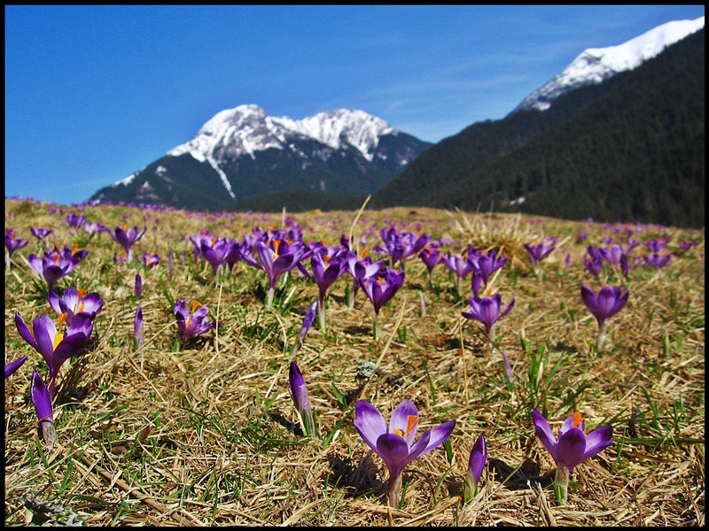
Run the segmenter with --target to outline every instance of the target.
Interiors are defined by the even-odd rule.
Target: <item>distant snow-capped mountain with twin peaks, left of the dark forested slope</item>
[[[359,110],[292,119],[239,105],[91,199],[213,210],[284,189],[366,195],[430,146]]]

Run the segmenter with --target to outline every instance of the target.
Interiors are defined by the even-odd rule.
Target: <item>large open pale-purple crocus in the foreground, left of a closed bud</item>
[[[456,420],[449,420],[426,430],[414,443],[418,410],[410,400],[403,400],[394,408],[388,426],[384,416],[366,400],[358,400],[354,405],[354,428],[371,450],[384,459],[389,471],[389,505],[392,507],[399,506],[404,467],[444,443],[454,427]]]

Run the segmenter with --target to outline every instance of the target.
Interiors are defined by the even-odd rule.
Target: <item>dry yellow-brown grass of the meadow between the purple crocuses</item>
[[[127,261],[111,235],[71,227],[70,215],[146,230]],[[40,238],[33,227],[52,232]],[[289,364],[316,282],[292,269],[267,304],[263,270],[241,258],[215,271],[191,241],[293,227],[303,242],[346,241],[405,272],[378,312],[376,338],[362,289],[347,304],[353,277],[328,289],[325,330],[316,319],[294,357],[315,436],[302,429]],[[429,275],[418,253],[391,264],[377,252],[387,227],[431,235],[444,254],[474,246],[506,258],[485,286],[503,309],[515,300],[494,338],[462,314],[471,277],[458,283],[442,263]],[[28,242],[12,256],[5,250],[5,364],[27,356],[5,379],[5,525],[705,525],[704,229],[423,208],[210,214],[19,199],[5,200],[5,228]],[[551,238],[554,249],[533,264],[525,244]],[[608,263],[591,273],[588,248],[614,244],[631,249],[627,274]],[[19,334],[16,314],[30,330],[43,313],[57,321],[47,281],[29,264],[55,245],[88,254],[54,290],[96,292],[104,304],[85,349],[59,370],[49,444],[31,389],[33,370],[46,378],[48,366]],[[653,246],[671,256],[666,265],[644,258]],[[302,265],[309,270],[310,259]],[[629,293],[607,320],[602,349],[582,285]],[[215,326],[181,342],[178,300],[208,308]],[[410,400],[419,437],[456,421],[444,443],[405,466],[396,507],[387,504],[385,462],[354,427],[358,400],[387,422]],[[565,503],[534,410],[555,434],[574,412],[587,434],[612,426],[612,444],[573,469]],[[481,435],[487,460],[467,499]]]

